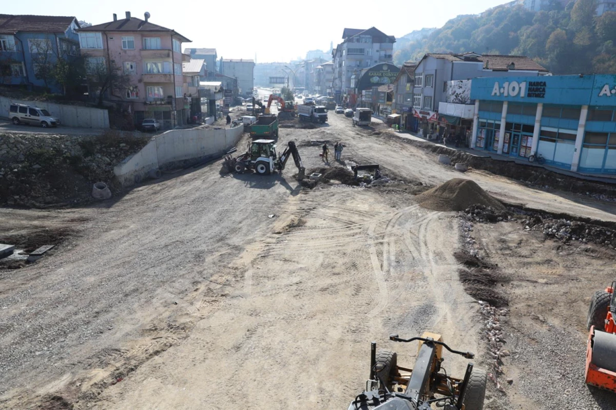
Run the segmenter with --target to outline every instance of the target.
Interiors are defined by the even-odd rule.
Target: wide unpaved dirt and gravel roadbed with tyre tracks
[[[462,177],[500,200],[601,221],[616,221],[614,204],[460,174],[333,113],[314,130],[281,130],[279,149],[289,140],[307,168],[336,165],[318,153],[341,141],[337,165],[378,163],[393,182],[306,189],[291,163],[256,176],[214,162],[94,207],[0,209],[3,240],[63,232],[51,255],[0,271],[0,407],[346,408],[368,377],[370,341],[412,365],[416,346],[387,335],[429,330],[493,374],[487,409],[615,408],[583,382],[588,302],[613,280],[611,245],[546,238],[512,208],[482,223],[415,197]],[[485,306],[460,281],[471,252],[501,278],[489,285],[503,295],[502,373]],[[465,366],[445,354],[448,374]]]

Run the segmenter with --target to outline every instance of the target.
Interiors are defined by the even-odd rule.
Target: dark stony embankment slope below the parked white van
[[[115,184],[113,167],[148,137],[0,135],[0,205],[47,208],[87,203],[94,183]]]

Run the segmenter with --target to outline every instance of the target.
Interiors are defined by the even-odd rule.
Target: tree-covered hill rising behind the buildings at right
[[[418,61],[424,53],[472,51],[527,55],[554,74],[616,73],[616,12],[596,17],[595,10],[594,0],[566,6],[553,0],[550,10],[540,12],[519,5],[461,15],[428,36],[396,42],[394,62]]]

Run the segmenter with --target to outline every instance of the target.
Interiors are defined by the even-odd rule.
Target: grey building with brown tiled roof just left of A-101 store
[[[477,53],[428,53],[415,67],[413,115],[420,121],[423,135],[442,136],[445,132],[468,134],[471,118],[454,119],[439,114],[439,104],[447,103],[448,83],[476,77],[529,76],[548,74],[548,70],[529,57],[519,55],[481,55]],[[461,110],[464,111],[463,109]],[[464,120],[464,121],[463,121]],[[455,123],[454,123],[455,122]]]

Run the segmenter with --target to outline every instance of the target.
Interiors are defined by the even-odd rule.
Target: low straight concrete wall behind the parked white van
[[[9,119],[10,104],[27,104],[44,108],[49,114],[60,119],[60,127],[109,128],[109,113],[106,109],[0,97],[0,117]]]

